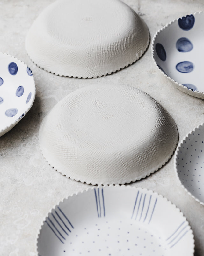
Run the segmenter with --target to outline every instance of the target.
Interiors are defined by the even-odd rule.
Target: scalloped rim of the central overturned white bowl
[[[137,88],[136,88],[136,89],[137,89]],[[140,90],[140,89],[138,89],[138,90],[139,90],[139,91],[142,91],[142,90]],[[143,91],[142,91],[142,92],[143,92]],[[144,92],[144,93],[147,94],[146,92]],[[154,101],[156,101],[156,102],[158,103],[158,101],[155,100],[154,98],[152,98],[152,96],[150,96],[149,94],[147,94],[147,95],[148,95],[151,99],[153,99]],[[139,176],[139,177],[137,177],[137,178],[135,178],[135,179],[129,179],[129,180],[125,181],[125,182],[124,182],[124,181],[119,181],[119,182],[115,182],[115,183],[94,183],[94,182],[92,182],[92,181],[81,180],[80,178],[73,178],[73,177],[70,177],[69,175],[66,175],[63,171],[58,170],[57,167],[55,166],[55,164],[51,164],[50,161],[46,159],[46,156],[44,155],[44,153],[43,153],[43,151],[42,151],[42,148],[40,147],[40,142],[39,142],[39,140],[38,140],[39,147],[40,147],[40,151],[41,151],[41,153],[42,153],[44,159],[47,161],[47,163],[48,163],[55,171],[61,173],[63,176],[66,176],[67,178],[70,178],[71,180],[80,181],[80,182],[86,183],[86,184],[88,184],[88,185],[89,185],[89,184],[92,184],[92,185],[94,185],[94,186],[95,186],[95,185],[98,185],[98,186],[99,186],[99,185],[104,185],[104,186],[106,186],[106,185],[119,185],[119,184],[120,184],[120,185],[123,185],[123,184],[129,184],[129,183],[131,183],[131,182],[135,182],[136,180],[144,179],[144,178],[148,177],[149,175],[151,175],[152,173],[158,171],[160,168],[162,168],[163,165],[165,165],[165,164],[169,161],[169,159],[170,159],[170,158],[172,157],[172,155],[174,154],[174,151],[175,151],[175,149],[176,149],[176,147],[177,147],[177,144],[178,144],[178,141],[179,141],[179,131],[178,131],[178,127],[177,127],[177,125],[176,125],[174,119],[172,118],[172,116],[169,114],[169,112],[168,112],[160,103],[158,103],[158,104],[164,109],[165,113],[167,113],[167,115],[172,119],[172,121],[174,122],[174,124],[175,124],[175,126],[176,126],[177,134],[176,134],[176,138],[175,138],[175,144],[174,144],[173,150],[172,150],[172,152],[170,152],[169,156],[167,156],[167,157],[164,159],[164,161],[163,161],[161,164],[159,164],[159,165],[155,168],[155,170],[149,171],[149,172],[145,173],[144,175],[141,175],[141,176]]]

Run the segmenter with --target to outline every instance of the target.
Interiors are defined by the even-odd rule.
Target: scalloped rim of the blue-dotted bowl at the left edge
[[[10,54],[6,53],[6,52],[0,52],[0,54],[3,54],[3,55],[6,55],[8,57],[11,57],[12,59],[14,60],[18,60],[20,61],[23,65],[25,65],[26,67],[28,67],[28,65],[25,64],[25,62],[23,62],[22,60],[19,60],[18,58],[14,57],[14,56],[11,56]],[[36,87],[35,87],[35,80],[34,80],[34,77],[32,76],[33,78],[33,84],[34,84],[34,97],[33,97],[33,100],[30,101],[27,105],[27,108],[25,109],[25,112],[24,112],[24,116],[28,113],[28,111],[31,109],[31,107],[33,106],[33,103],[34,103],[34,100],[35,100],[35,95],[36,95]],[[0,137],[3,136],[5,133],[9,132],[16,124],[18,124],[18,122],[24,117],[24,116],[20,116],[18,119],[16,119],[13,123],[11,123],[9,126],[6,126],[5,128],[1,129],[0,130]]]

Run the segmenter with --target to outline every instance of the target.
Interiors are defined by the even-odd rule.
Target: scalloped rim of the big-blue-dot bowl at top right
[[[194,13],[191,13],[193,15],[196,15],[196,14],[200,14],[200,13],[204,13],[204,11],[200,11],[200,12],[194,12]],[[187,14],[187,15],[191,15],[191,14]],[[186,15],[186,16],[187,16]],[[184,16],[184,17],[186,17]],[[182,18],[184,18],[182,17]],[[157,67],[157,69],[160,70],[160,72],[167,78],[169,79],[171,82],[173,82],[177,88],[179,90],[181,90],[182,92],[185,92],[186,94],[189,94],[191,96],[194,96],[194,97],[197,97],[197,98],[201,98],[201,99],[204,99],[204,92],[200,92],[200,91],[192,91],[192,90],[189,90],[188,87],[184,86],[183,84],[179,84],[178,82],[176,82],[175,80],[173,80],[171,77],[167,76],[166,74],[164,74],[164,72],[157,66],[157,62],[155,60],[155,54],[154,54],[154,42],[155,42],[155,39],[157,37],[158,34],[160,34],[165,28],[169,27],[172,23],[178,21],[180,18],[177,18],[177,19],[174,19],[172,20],[171,22],[167,23],[163,28],[159,29],[153,36],[152,38],[152,43],[151,43],[151,52],[152,52],[152,59]]]

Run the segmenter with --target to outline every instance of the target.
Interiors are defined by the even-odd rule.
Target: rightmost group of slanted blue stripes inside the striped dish
[[[171,234],[171,236],[169,236],[166,239],[170,248],[174,247],[174,245],[176,245],[181,240],[181,238],[186,235],[186,233],[189,231],[189,229],[188,230],[186,229],[187,227],[188,227],[188,224],[186,223],[186,221],[183,221],[179,225],[179,227]]]

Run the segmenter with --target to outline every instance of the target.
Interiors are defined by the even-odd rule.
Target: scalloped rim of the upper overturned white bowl
[[[141,19],[141,18],[140,18]],[[147,30],[148,30],[148,33],[149,33],[149,28],[147,27],[147,24],[142,20],[142,22],[144,23],[144,25],[146,26],[146,28],[147,28]],[[26,49],[26,52],[27,52],[27,55],[28,55],[28,57],[33,61],[33,63],[37,66],[37,67],[39,67],[39,68],[41,68],[41,69],[43,69],[43,70],[45,70],[45,71],[47,71],[47,72],[49,72],[49,73],[52,73],[52,74],[54,74],[54,75],[56,75],[56,76],[64,76],[64,77],[73,77],[73,78],[83,78],[83,79],[87,79],[87,78],[98,78],[98,77],[101,77],[101,76],[107,76],[107,75],[110,75],[110,74],[112,74],[112,73],[115,73],[116,71],[120,71],[121,69],[124,69],[124,68],[126,68],[126,67],[128,67],[129,65],[132,65],[133,63],[135,63],[137,60],[139,60],[141,57],[142,57],[142,55],[147,51],[147,49],[148,49],[148,47],[149,47],[149,44],[150,44],[150,33],[149,33],[149,37],[148,37],[148,41],[147,41],[147,44],[146,44],[146,46],[145,46],[145,49],[143,50],[143,51],[141,51],[139,54],[138,53],[136,53],[136,56],[135,56],[135,59],[132,61],[132,62],[127,62],[123,67],[119,67],[119,68],[115,68],[115,69],[112,69],[112,70],[110,70],[110,71],[106,71],[105,73],[103,73],[102,75],[99,75],[99,76],[74,76],[74,75],[62,75],[62,74],[57,74],[57,73],[55,73],[54,71],[52,71],[52,70],[49,70],[49,69],[46,69],[46,68],[42,68],[42,67],[40,67],[39,65],[37,65],[34,61],[33,61],[33,59],[30,57],[30,55],[28,54],[28,52],[27,52],[27,49]]]

